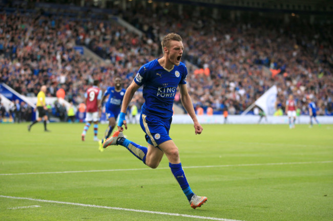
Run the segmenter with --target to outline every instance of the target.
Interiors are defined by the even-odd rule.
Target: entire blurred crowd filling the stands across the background
[[[319,115],[332,114],[331,24],[216,19],[191,7],[183,7],[181,16],[167,7],[135,7],[118,10],[118,15],[144,35],[112,19],[1,12],[0,82],[32,97],[43,84],[47,96],[55,97],[62,88],[65,99],[78,105],[94,79],[105,90],[120,76],[126,88],[142,64],[161,56],[161,37],[176,32],[183,38],[182,61],[189,70],[195,107],[240,114],[276,84],[277,108],[284,110],[293,94],[303,114],[307,97],[315,98]],[[81,55],[76,45],[90,48],[103,60]],[[133,101],[138,107],[144,102],[140,93]],[[177,94],[175,103],[180,102]]]

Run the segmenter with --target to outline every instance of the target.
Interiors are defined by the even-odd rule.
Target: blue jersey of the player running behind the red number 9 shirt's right
[[[121,89],[121,91],[117,92],[114,86],[108,87],[104,94],[105,96],[109,95],[108,101],[105,104],[105,108],[112,112],[120,112],[121,103],[125,92],[125,89]]]

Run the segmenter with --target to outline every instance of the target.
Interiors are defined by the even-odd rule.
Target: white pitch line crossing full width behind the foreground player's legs
[[[230,165],[211,165],[211,166],[184,166],[183,168],[191,169],[191,168],[272,166],[272,165],[324,164],[324,163],[333,163],[333,161],[287,162],[287,163],[265,163],[265,164],[230,164]],[[77,171],[30,172],[30,173],[0,173],[0,175],[32,175],[32,174],[54,174],[54,173],[114,172],[114,171],[150,170],[150,169],[151,168],[109,169],[109,170],[77,170]],[[157,168],[157,169],[170,169],[170,167],[161,167],[161,168]]]

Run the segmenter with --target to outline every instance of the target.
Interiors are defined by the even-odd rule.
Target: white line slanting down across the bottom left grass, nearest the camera
[[[188,217],[188,218],[199,218],[199,219],[210,219],[210,220],[221,220],[221,221],[242,221],[242,220],[236,220],[236,219],[226,219],[226,218],[217,218],[217,217],[208,217],[208,216],[196,216],[196,215],[188,215],[188,214],[180,214],[180,213],[167,213],[167,212],[158,212],[158,211],[149,211],[149,210],[128,209],[128,208],[121,208],[121,207],[108,207],[108,206],[98,206],[98,205],[91,205],[91,204],[40,200],[40,199],[27,198],[27,197],[16,197],[16,196],[5,196],[5,195],[0,195],[0,197],[12,198],[15,200],[29,200],[29,201],[37,201],[37,202],[44,202],[44,203],[67,204],[67,205],[73,205],[73,206],[123,210],[123,211],[139,212],[139,213],[151,213],[151,214],[169,215],[169,216],[182,216],[182,217]]]

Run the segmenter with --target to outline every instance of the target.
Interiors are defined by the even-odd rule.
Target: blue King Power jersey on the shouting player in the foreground
[[[188,70],[180,62],[172,70],[164,69],[158,59],[144,64],[136,74],[134,81],[143,85],[145,100],[141,113],[162,120],[169,120],[173,115],[173,102],[179,84],[186,84]]]

